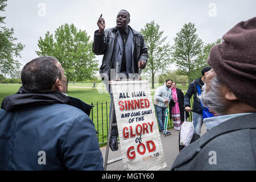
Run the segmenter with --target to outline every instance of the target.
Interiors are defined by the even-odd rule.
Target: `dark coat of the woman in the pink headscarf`
[[[176,92],[177,92],[177,101],[179,102],[179,109],[180,109],[180,121],[184,121],[184,94],[183,92],[176,88]],[[169,113],[170,113],[170,119],[172,118],[172,107],[175,106],[175,102],[174,101],[170,101],[169,103]],[[188,118],[188,112],[186,112],[186,119]]]

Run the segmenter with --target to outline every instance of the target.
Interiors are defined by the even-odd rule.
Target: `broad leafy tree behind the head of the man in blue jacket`
[[[92,52],[92,42],[85,31],[77,31],[77,28],[66,23],[55,31],[55,35],[49,32],[45,38],[38,40],[40,51],[38,56],[55,57],[64,69],[68,81],[82,81],[92,78],[98,70],[98,63]]]

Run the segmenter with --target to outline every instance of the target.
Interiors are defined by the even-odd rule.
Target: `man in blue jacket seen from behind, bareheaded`
[[[104,170],[91,106],[68,97],[59,61],[38,57],[0,110],[0,170]]]

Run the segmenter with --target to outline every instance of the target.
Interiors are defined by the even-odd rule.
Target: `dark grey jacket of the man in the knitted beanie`
[[[256,113],[210,129],[180,152],[171,170],[256,170]]]

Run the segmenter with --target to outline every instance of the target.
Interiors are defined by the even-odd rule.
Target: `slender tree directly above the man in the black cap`
[[[176,63],[178,73],[188,76],[188,82],[190,83],[195,78],[203,41],[196,34],[195,24],[191,22],[184,24],[174,41],[172,58]]]

